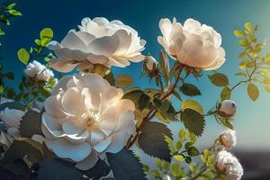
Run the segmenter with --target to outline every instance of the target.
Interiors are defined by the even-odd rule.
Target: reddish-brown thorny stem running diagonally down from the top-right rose
[[[177,85],[177,83],[179,82],[179,80],[181,79],[181,71],[179,71],[177,73],[177,76],[175,78],[175,83],[174,85],[170,86],[167,93],[164,93],[164,91],[161,92],[161,96],[160,96],[160,100],[161,101],[164,101],[168,96],[170,96],[171,94],[173,94],[173,92],[175,91],[175,87]],[[130,148],[135,142],[136,140],[138,139],[139,137],[139,132],[141,130],[141,128],[145,125],[146,122],[150,121],[152,118],[155,117],[155,114],[157,112],[157,107],[153,107],[149,112],[148,114],[143,118],[143,120],[141,121],[141,123],[139,124],[139,127],[137,127],[136,129],[136,134],[135,136],[130,136],[130,139],[128,139],[128,142],[127,142],[127,148]]]

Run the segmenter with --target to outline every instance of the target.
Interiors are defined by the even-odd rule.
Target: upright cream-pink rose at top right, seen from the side
[[[225,61],[225,51],[221,45],[220,34],[210,26],[193,19],[184,25],[161,19],[159,29],[162,36],[157,38],[166,52],[181,64],[203,70],[219,68]]]

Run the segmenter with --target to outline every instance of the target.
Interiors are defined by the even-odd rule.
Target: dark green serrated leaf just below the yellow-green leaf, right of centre
[[[184,109],[180,114],[181,121],[184,122],[184,127],[193,132],[196,136],[201,136],[205,126],[204,116],[194,111],[193,109]]]

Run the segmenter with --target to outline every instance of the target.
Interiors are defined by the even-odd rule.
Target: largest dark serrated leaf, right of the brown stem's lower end
[[[172,139],[171,130],[165,124],[157,121],[148,121],[139,134],[139,147],[149,156],[170,161],[170,150],[164,135]]]

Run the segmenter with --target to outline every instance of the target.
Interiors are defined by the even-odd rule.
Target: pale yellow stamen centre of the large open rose
[[[87,110],[85,113],[83,113],[81,118],[87,126],[92,126],[94,123],[99,123],[102,121],[100,113],[93,109]]]

